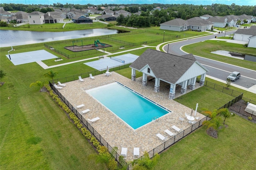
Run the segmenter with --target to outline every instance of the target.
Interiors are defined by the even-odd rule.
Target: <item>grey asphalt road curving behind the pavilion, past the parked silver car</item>
[[[229,34],[233,34],[235,31],[236,30],[227,32],[226,36]],[[169,48],[168,48],[168,45],[164,46],[164,50],[165,51],[168,50],[168,53],[175,54],[175,55],[185,55],[187,53],[180,50],[180,47],[182,47],[184,45],[188,45],[190,43],[196,43],[196,42],[201,42],[204,40],[209,40],[209,39],[215,38],[215,36],[221,37],[224,35],[225,35],[225,33],[220,33],[220,34],[214,34],[214,35],[204,36],[204,37],[200,37],[200,38],[194,38],[194,39],[190,39],[190,40],[184,40],[181,42],[170,43]],[[230,65],[227,63],[222,63],[219,61],[214,61],[214,60],[207,59],[204,57],[195,56],[195,58],[209,70],[209,72],[206,73],[208,76],[226,81],[226,78],[228,77],[228,74],[230,72],[239,71],[242,76],[239,80],[232,82],[233,84],[239,85],[239,86],[242,86],[245,88],[250,88],[253,85],[256,85],[256,71],[253,71],[250,69],[245,69],[245,68],[234,66],[234,65]],[[256,89],[254,89],[254,91],[256,91]]]

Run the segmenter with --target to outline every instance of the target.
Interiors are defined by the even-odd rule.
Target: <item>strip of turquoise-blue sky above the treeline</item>
[[[14,4],[194,4],[194,5],[211,5],[211,4],[236,4],[255,6],[256,0],[0,0],[0,3]]]

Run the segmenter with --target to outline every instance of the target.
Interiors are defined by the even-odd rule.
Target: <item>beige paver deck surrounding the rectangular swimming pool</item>
[[[163,136],[167,136],[164,134],[164,130],[166,129],[175,132],[171,129],[172,125],[176,125],[179,128],[188,128],[191,126],[186,121],[183,123],[178,121],[179,117],[185,117],[185,112],[190,115],[191,108],[168,99],[169,89],[167,83],[165,84],[165,82],[161,81],[160,92],[156,93],[154,92],[154,82],[149,81],[147,86],[142,86],[142,77],[136,78],[136,81],[132,81],[115,72],[112,72],[110,76],[102,74],[94,77],[95,79],[90,79],[90,77],[84,78],[84,82],[80,82],[79,80],[67,82],[65,83],[66,86],[59,91],[73,106],[85,105],[85,107],[78,109],[78,111],[82,112],[85,109],[90,109],[90,113],[84,114],[85,119],[93,119],[94,117],[100,118],[99,121],[92,124],[92,127],[110,144],[110,146],[118,147],[118,154],[120,154],[122,147],[128,148],[128,161],[133,160],[134,147],[140,148],[140,156],[142,156],[144,151],[149,152],[160,145],[162,141],[156,137],[156,134],[160,133]],[[122,83],[144,97],[162,105],[172,111],[172,113],[160,117],[158,122],[151,122],[134,130],[86,93],[88,89],[114,83],[115,81]],[[199,87],[200,85],[196,84],[196,88]],[[180,89],[176,91],[176,97],[181,95],[179,90]],[[187,93],[189,91],[190,90],[187,89]],[[201,119],[205,117],[200,113],[196,114],[196,117],[198,116],[201,117]]]

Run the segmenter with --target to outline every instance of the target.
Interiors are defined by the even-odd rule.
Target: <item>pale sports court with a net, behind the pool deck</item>
[[[91,61],[88,63],[84,63],[85,65],[88,65],[96,70],[106,70],[107,66],[108,68],[116,67],[118,65],[124,65],[128,63],[132,63],[135,61],[139,56],[134,54],[124,54],[124,55],[118,55],[116,57],[105,57],[104,59],[100,59],[97,61]],[[114,58],[114,59],[113,59]],[[124,61],[124,62],[122,62]]]

